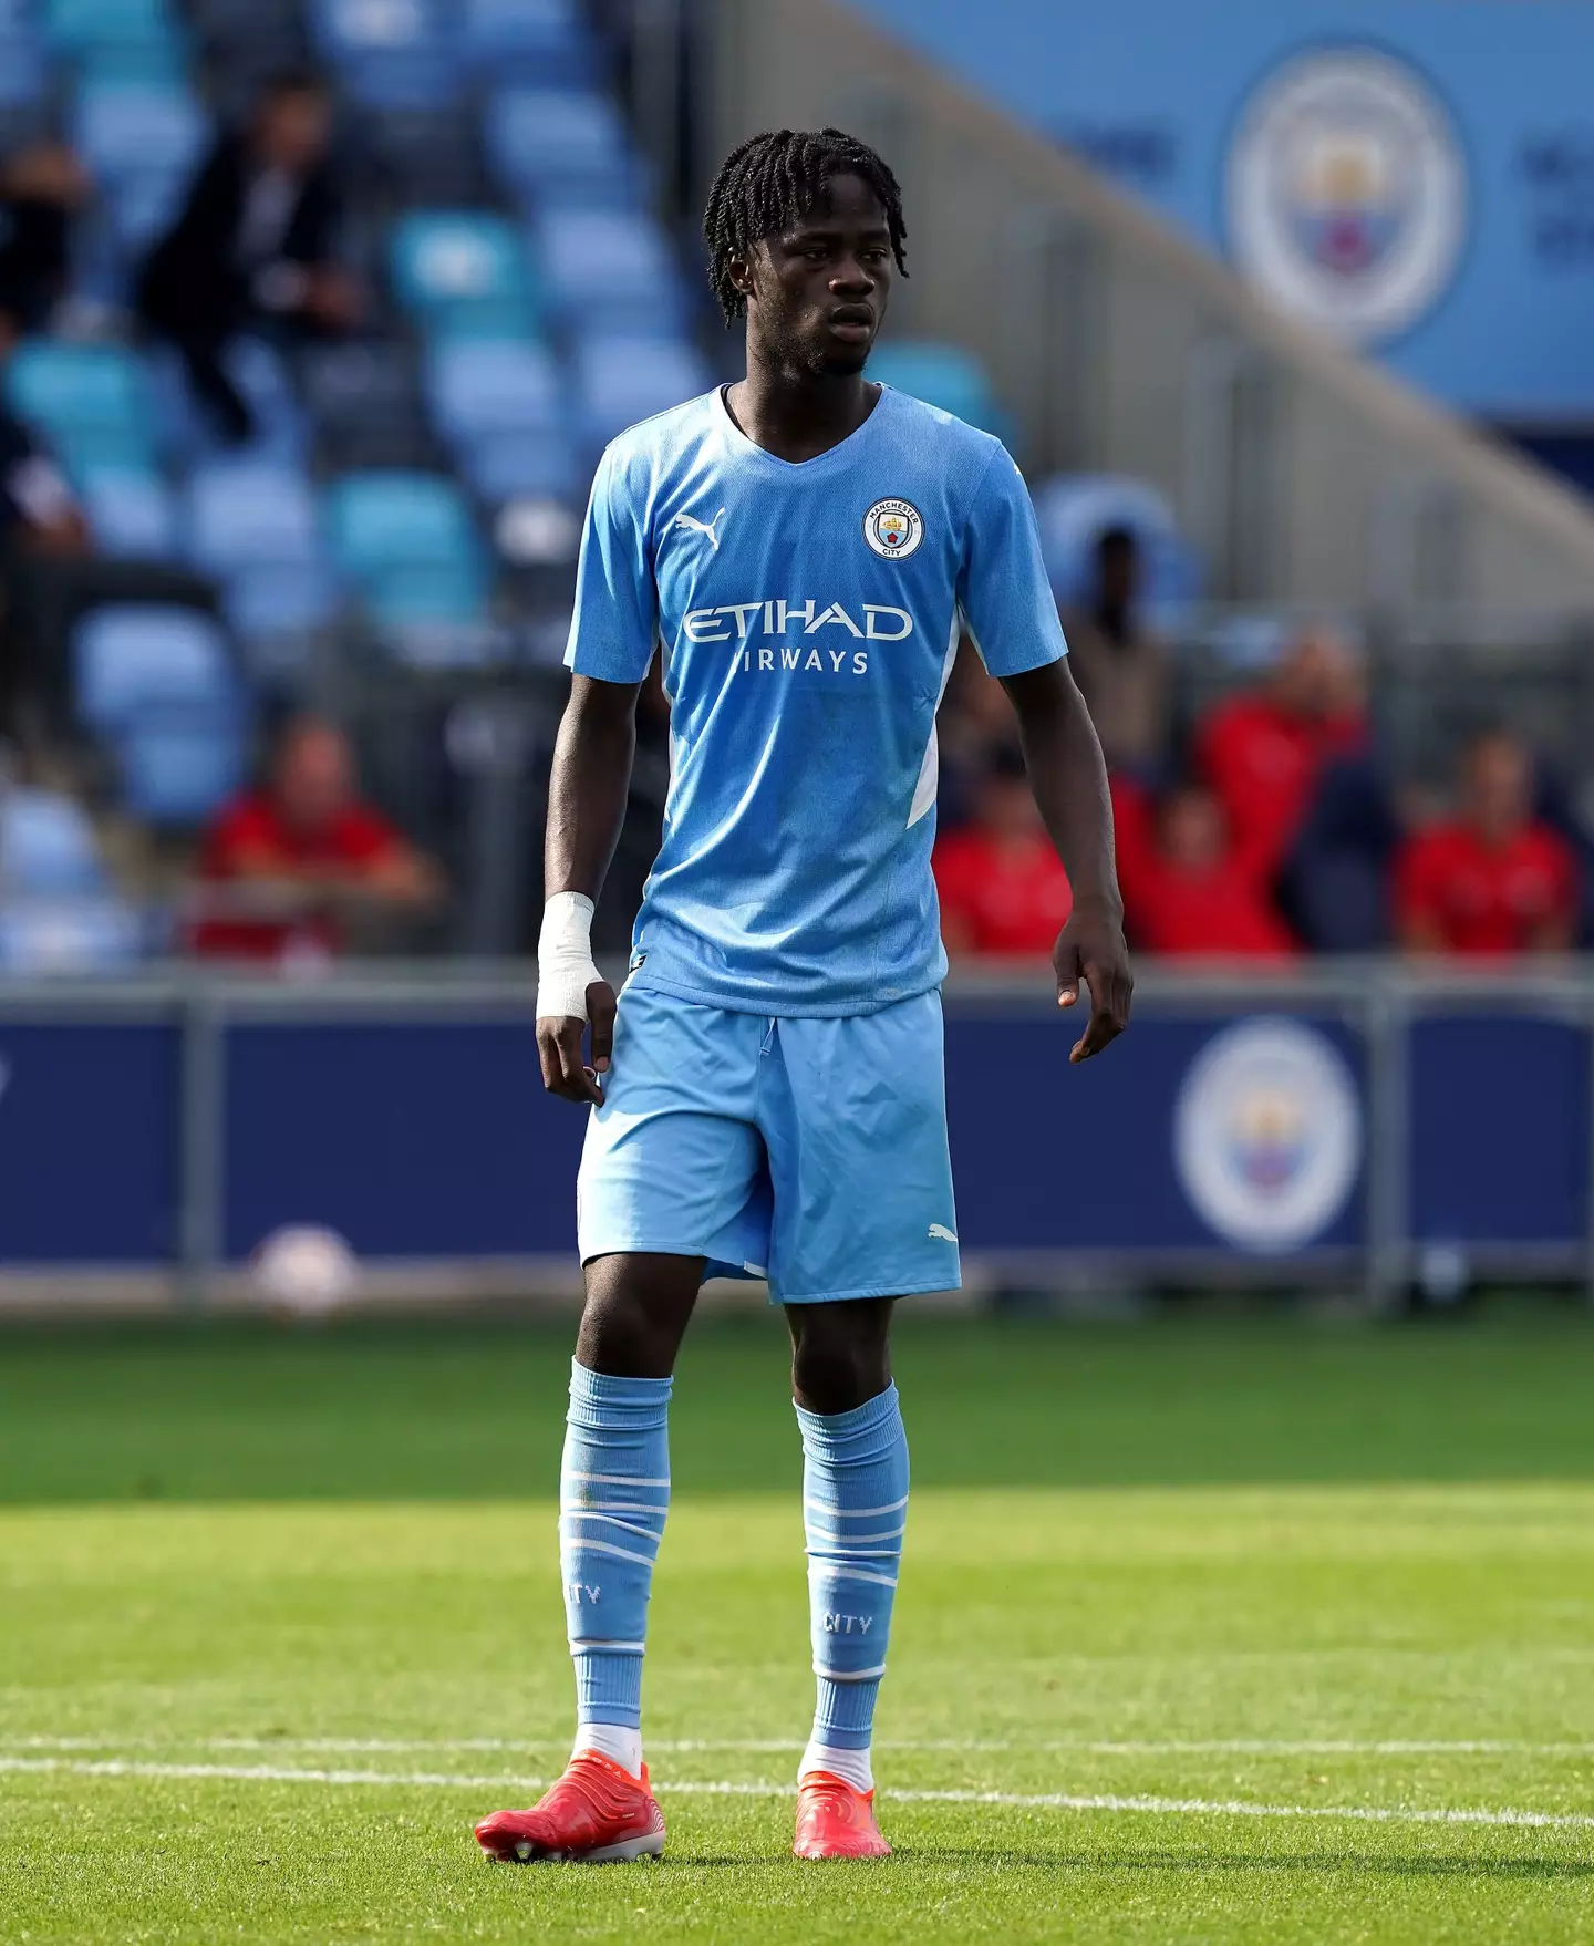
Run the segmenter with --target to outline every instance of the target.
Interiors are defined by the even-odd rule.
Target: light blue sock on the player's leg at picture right
[[[868,1751],[870,1746],[907,1526],[907,1434],[895,1386],[851,1413],[798,1407],[796,1415],[814,1674],[819,1677],[810,1757],[804,1759],[812,1767],[815,1746],[831,1751]],[[864,1757],[849,1783],[866,1775]]]

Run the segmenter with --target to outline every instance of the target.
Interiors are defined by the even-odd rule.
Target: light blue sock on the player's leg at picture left
[[[648,1592],[670,1512],[670,1386],[570,1362],[559,1563],[582,1724],[642,1722]]]

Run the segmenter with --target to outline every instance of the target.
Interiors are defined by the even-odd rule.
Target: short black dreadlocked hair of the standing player
[[[720,300],[726,325],[734,325],[747,309],[747,300],[730,280],[730,259],[745,257],[763,237],[800,224],[823,202],[837,175],[860,177],[880,198],[891,255],[907,276],[901,185],[868,142],[841,128],[765,130],[747,136],[726,156],[703,212],[708,284]]]

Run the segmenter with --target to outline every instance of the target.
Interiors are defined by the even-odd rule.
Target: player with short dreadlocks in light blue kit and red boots
[[[1024,481],[996,440],[862,376],[905,274],[895,177],[837,128],[753,136],[705,234],[747,376],[603,455],[549,786],[537,1045],[545,1086],[592,1103],[559,1524],[578,1728],[535,1810],[477,1825],[498,1858],[664,1849],[642,1650],[671,1372],[708,1273],[767,1277],[792,1335],[819,1679],[794,1849],[889,1851],[870,1773],[907,1522],[888,1331],[897,1298],[958,1282],[930,841],[963,634],[1012,697],[1072,882],[1053,957],[1061,1006],[1090,989],[1074,1059],[1129,1018],[1102,751]],[[673,775],[617,1004],[588,934],[656,650]]]

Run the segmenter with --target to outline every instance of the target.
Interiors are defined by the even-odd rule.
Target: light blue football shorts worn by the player
[[[627,987],[576,1189],[582,1263],[706,1257],[773,1304],[954,1290],[940,994],[771,1020]]]

